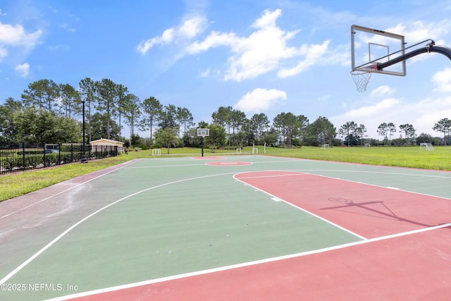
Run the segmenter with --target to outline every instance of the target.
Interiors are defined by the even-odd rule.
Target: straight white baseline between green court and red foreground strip
[[[239,268],[246,267],[246,266],[254,266],[257,264],[266,264],[269,262],[276,262],[276,261],[283,260],[283,259],[292,259],[292,258],[303,257],[303,256],[311,255],[311,254],[319,254],[319,253],[323,253],[323,252],[343,249],[345,247],[352,247],[355,245],[364,245],[369,242],[388,240],[390,238],[398,238],[398,237],[402,237],[402,236],[406,236],[406,235],[412,235],[412,234],[416,234],[416,233],[432,231],[432,230],[436,230],[436,229],[440,229],[440,228],[447,228],[450,226],[451,226],[451,223],[446,223],[444,225],[433,226],[430,228],[423,228],[423,229],[408,231],[408,232],[404,232],[404,233],[397,233],[397,234],[393,234],[393,235],[382,236],[379,238],[370,238],[368,240],[359,240],[357,242],[350,242],[350,243],[347,243],[344,245],[336,245],[333,247],[325,247],[325,248],[319,249],[319,250],[312,250],[312,251],[307,251],[307,252],[288,254],[288,255],[283,255],[283,256],[279,256],[279,257],[272,257],[272,258],[268,258],[268,259],[256,260],[254,262],[244,262],[242,264],[232,264],[230,266],[221,266],[221,267],[214,268],[214,269],[206,269],[203,271],[194,271],[194,272],[190,272],[190,273],[179,274],[179,275],[174,275],[174,276],[167,276],[167,277],[163,277],[163,278],[156,278],[156,279],[147,280],[147,281],[140,281],[140,282],[128,283],[128,284],[124,284],[124,285],[117,285],[117,286],[112,286],[110,288],[101,288],[99,290],[90,290],[90,291],[84,292],[84,293],[76,293],[73,295],[56,297],[56,298],[52,298],[52,299],[44,300],[44,301],[62,301],[62,300],[76,298],[76,297],[86,297],[89,295],[95,295],[95,294],[99,294],[99,293],[109,293],[109,292],[113,292],[116,290],[125,290],[127,288],[136,288],[138,286],[150,285],[150,284],[154,284],[154,283],[161,283],[164,281],[172,281],[172,280],[177,280],[177,279],[187,278],[187,277],[192,277],[192,276],[201,276],[201,275],[216,273],[216,272],[220,272],[220,271],[228,271],[231,269],[239,269]]]

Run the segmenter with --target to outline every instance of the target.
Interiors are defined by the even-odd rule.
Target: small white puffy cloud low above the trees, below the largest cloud
[[[283,99],[287,99],[287,93],[284,91],[257,88],[241,97],[234,107],[247,114],[261,113]]]

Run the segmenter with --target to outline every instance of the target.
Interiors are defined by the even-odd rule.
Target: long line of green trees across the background
[[[123,123],[130,128],[131,144],[140,147],[199,146],[196,128],[211,128],[207,142],[211,147],[245,145],[414,145],[431,142],[450,145],[451,121],[435,123],[433,130],[443,133],[443,140],[421,133],[405,123],[399,129],[393,123],[381,123],[377,133],[382,141],[368,139],[363,124],[348,121],[335,128],[328,118],[309,121],[304,115],[279,113],[272,122],[264,113],[247,118],[232,106],[220,106],[211,114],[212,124],[194,123],[189,109],[163,105],[156,97],[141,100],[127,87],[109,79],[80,80],[78,87],[37,80],[28,85],[20,100],[9,97],[0,106],[0,142],[81,142],[82,109],[85,108],[87,141],[101,137],[126,141]],[[148,137],[135,135],[135,130]],[[399,138],[395,133],[400,133]],[[340,137],[340,138],[337,138]],[[439,139],[439,140],[438,140]]]

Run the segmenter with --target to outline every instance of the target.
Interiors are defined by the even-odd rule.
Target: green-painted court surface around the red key
[[[39,204],[8,216],[3,209],[20,198],[0,203],[0,300],[46,300],[362,240],[233,178],[248,171],[451,198],[447,172],[271,156],[140,159],[58,195],[30,194],[27,206]]]

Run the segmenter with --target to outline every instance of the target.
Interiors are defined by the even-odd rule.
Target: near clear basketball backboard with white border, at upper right
[[[385,63],[404,54],[404,48],[403,35],[359,25],[351,26],[351,59],[354,71],[405,76],[405,61],[395,63],[383,70],[375,68],[376,63]]]

